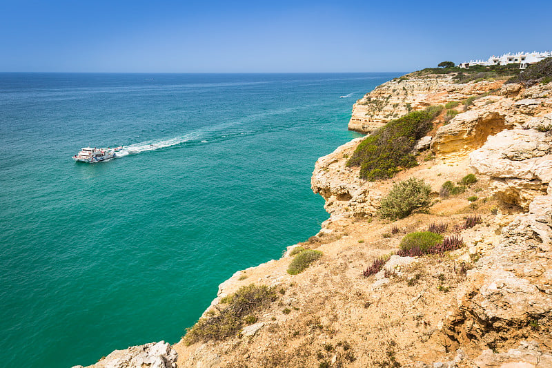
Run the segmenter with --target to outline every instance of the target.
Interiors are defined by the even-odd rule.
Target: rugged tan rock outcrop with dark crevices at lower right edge
[[[502,230],[500,242],[468,272],[447,333],[460,344],[500,347],[531,336],[552,349],[552,196]]]

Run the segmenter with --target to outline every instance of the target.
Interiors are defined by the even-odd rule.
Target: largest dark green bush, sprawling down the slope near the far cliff
[[[391,120],[358,145],[347,166],[360,166],[360,177],[371,181],[393,177],[399,167],[416,166],[411,151],[441,111],[442,106],[430,106]]]

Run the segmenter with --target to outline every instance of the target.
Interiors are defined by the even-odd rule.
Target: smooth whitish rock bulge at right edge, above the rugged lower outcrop
[[[501,200],[527,209],[552,180],[552,137],[532,129],[504,130],[473,151],[470,163],[491,177]]]

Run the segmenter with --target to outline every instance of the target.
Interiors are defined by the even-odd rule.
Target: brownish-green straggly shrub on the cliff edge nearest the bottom
[[[244,322],[249,323],[255,317],[255,312],[261,311],[277,299],[277,293],[266,285],[250,284],[238,289],[226,298],[224,309],[218,309],[214,316],[201,318],[190,329],[186,329],[184,342],[186,345],[198,341],[221,340],[234,336]]]

